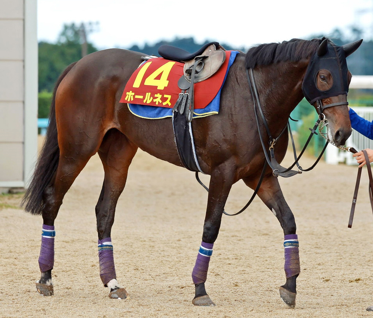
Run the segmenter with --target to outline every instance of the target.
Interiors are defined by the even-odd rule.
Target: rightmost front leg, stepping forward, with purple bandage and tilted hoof
[[[253,180],[244,179],[244,182],[251,188],[256,187]],[[284,234],[285,249],[285,274],[286,283],[280,287],[280,296],[286,305],[294,308],[295,297],[297,295],[297,277],[300,274],[299,262],[299,243],[298,236],[295,234],[297,227],[295,225],[294,215],[283,197],[278,179],[270,176],[264,178],[258,191],[258,196],[264,204],[278,218]]]

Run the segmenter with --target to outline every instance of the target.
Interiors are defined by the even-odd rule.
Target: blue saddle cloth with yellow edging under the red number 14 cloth
[[[227,72],[225,74],[223,84],[220,87],[220,89],[217,92],[214,99],[205,108],[194,109],[193,118],[206,117],[206,116],[210,116],[210,115],[214,115],[214,114],[219,113],[220,93],[221,93],[222,87],[225,83],[225,79],[227,78],[227,74],[229,72],[229,69],[231,68],[231,66],[232,66],[232,64],[233,64],[233,62],[236,58],[236,55],[238,53],[239,53],[238,51],[232,51],[231,52],[231,56],[229,57],[228,68],[227,68]],[[141,117],[141,118],[160,119],[160,118],[172,117],[172,108],[159,107],[159,106],[148,106],[148,105],[138,105],[138,104],[128,104],[128,108],[129,108],[131,113],[133,113],[134,115],[136,115],[138,117]]]

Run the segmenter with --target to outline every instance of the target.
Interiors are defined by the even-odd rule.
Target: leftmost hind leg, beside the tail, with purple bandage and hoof
[[[63,197],[73,184],[75,178],[82,171],[88,160],[96,153],[94,142],[82,147],[70,149],[69,143],[60,145],[60,156],[57,171],[50,184],[44,189],[43,200],[43,234],[39,267],[41,278],[36,282],[37,290],[44,296],[53,295],[52,269],[54,266],[54,220],[62,204]]]

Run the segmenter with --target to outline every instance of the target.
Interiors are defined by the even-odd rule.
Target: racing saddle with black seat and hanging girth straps
[[[162,45],[158,53],[164,59],[184,63],[184,75],[178,81],[181,89],[172,111],[192,121],[194,110],[194,83],[214,75],[225,61],[225,49],[217,42],[207,43],[197,52],[189,53],[175,46]]]

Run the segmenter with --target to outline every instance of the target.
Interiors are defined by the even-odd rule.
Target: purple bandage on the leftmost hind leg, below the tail
[[[54,265],[54,225],[43,224],[41,233],[41,247],[39,256],[39,268],[41,272],[46,272],[53,268]]]

